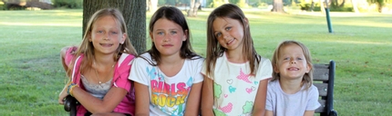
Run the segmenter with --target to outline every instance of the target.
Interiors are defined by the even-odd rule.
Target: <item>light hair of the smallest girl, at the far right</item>
[[[280,53],[281,49],[285,45],[288,45],[288,44],[296,44],[296,45],[300,46],[302,48],[302,51],[304,52],[304,58],[306,60],[306,64],[310,66],[309,73],[305,73],[304,77],[302,79],[302,82],[304,84],[306,84],[306,90],[307,90],[313,84],[313,64],[312,64],[311,53],[310,53],[309,49],[303,43],[291,41],[291,40],[279,43],[278,46],[276,47],[275,51],[273,52],[273,60],[272,60],[273,69],[278,68],[277,65],[278,65],[278,60],[279,60],[279,53]],[[281,78],[281,76],[279,73],[273,72],[273,79],[271,81],[280,80],[280,78]]]

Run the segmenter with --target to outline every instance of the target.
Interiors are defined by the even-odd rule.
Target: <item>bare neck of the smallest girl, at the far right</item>
[[[281,85],[282,90],[288,94],[294,94],[299,92],[303,86],[302,78],[295,80],[287,80],[284,78],[280,78],[279,84]]]

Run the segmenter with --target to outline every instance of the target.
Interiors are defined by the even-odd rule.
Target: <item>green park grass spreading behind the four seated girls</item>
[[[187,17],[193,48],[203,56],[209,13],[202,11],[199,17]],[[0,14],[0,115],[67,115],[57,103],[66,80],[59,50],[81,41],[82,11]],[[255,48],[262,56],[271,58],[283,40],[297,40],[309,47],[314,63],[335,60],[334,103],[339,115],[389,115],[392,15],[331,15],[334,34],[328,33],[323,14],[246,12]]]

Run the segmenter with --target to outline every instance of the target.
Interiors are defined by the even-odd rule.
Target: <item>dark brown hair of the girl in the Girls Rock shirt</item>
[[[162,6],[160,9],[158,9],[154,14],[152,14],[151,19],[150,19],[150,25],[149,25],[149,30],[150,33],[154,30],[154,24],[159,20],[159,19],[167,19],[175,24],[179,24],[182,28],[183,34],[187,34],[187,39],[182,42],[181,50],[180,50],[180,57],[183,59],[192,59],[195,56],[199,56],[196,54],[192,47],[191,47],[191,30],[188,26],[188,23],[185,19],[184,14],[176,8],[172,6]],[[152,36],[151,36],[152,37]],[[151,54],[151,58],[153,61],[156,63],[152,63],[152,61],[147,60],[146,58],[143,58],[147,60],[151,65],[159,65],[160,64],[160,51],[155,47],[154,42],[151,42],[151,49],[147,51],[146,53]],[[197,57],[200,58],[200,57]]]

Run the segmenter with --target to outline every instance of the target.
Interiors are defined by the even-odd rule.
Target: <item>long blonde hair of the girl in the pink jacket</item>
[[[121,12],[119,12],[118,9],[115,8],[105,8],[105,9],[100,9],[96,13],[94,13],[91,18],[88,20],[87,28],[86,28],[86,33],[83,36],[83,41],[80,44],[80,46],[77,48],[77,52],[74,55],[74,60],[76,59],[77,56],[84,54],[83,60],[81,61],[82,63],[80,64],[80,73],[83,73],[84,71],[87,70],[87,67],[93,63],[94,59],[94,46],[92,42],[88,41],[88,38],[91,37],[91,31],[93,28],[93,24],[101,17],[104,16],[112,16],[113,18],[116,19],[117,24],[120,25],[121,33],[127,34],[127,26],[124,21],[124,17],[122,16]],[[119,44],[119,48],[117,48],[116,53],[113,55],[114,61],[119,60],[119,56],[122,53],[129,53],[133,55],[137,55],[138,53],[136,52],[135,48],[133,47],[132,43],[130,43],[130,40],[128,36],[126,37],[124,43]],[[75,63],[75,61],[73,61]],[[72,64],[72,63],[71,63]],[[73,64],[72,64],[73,65]]]

